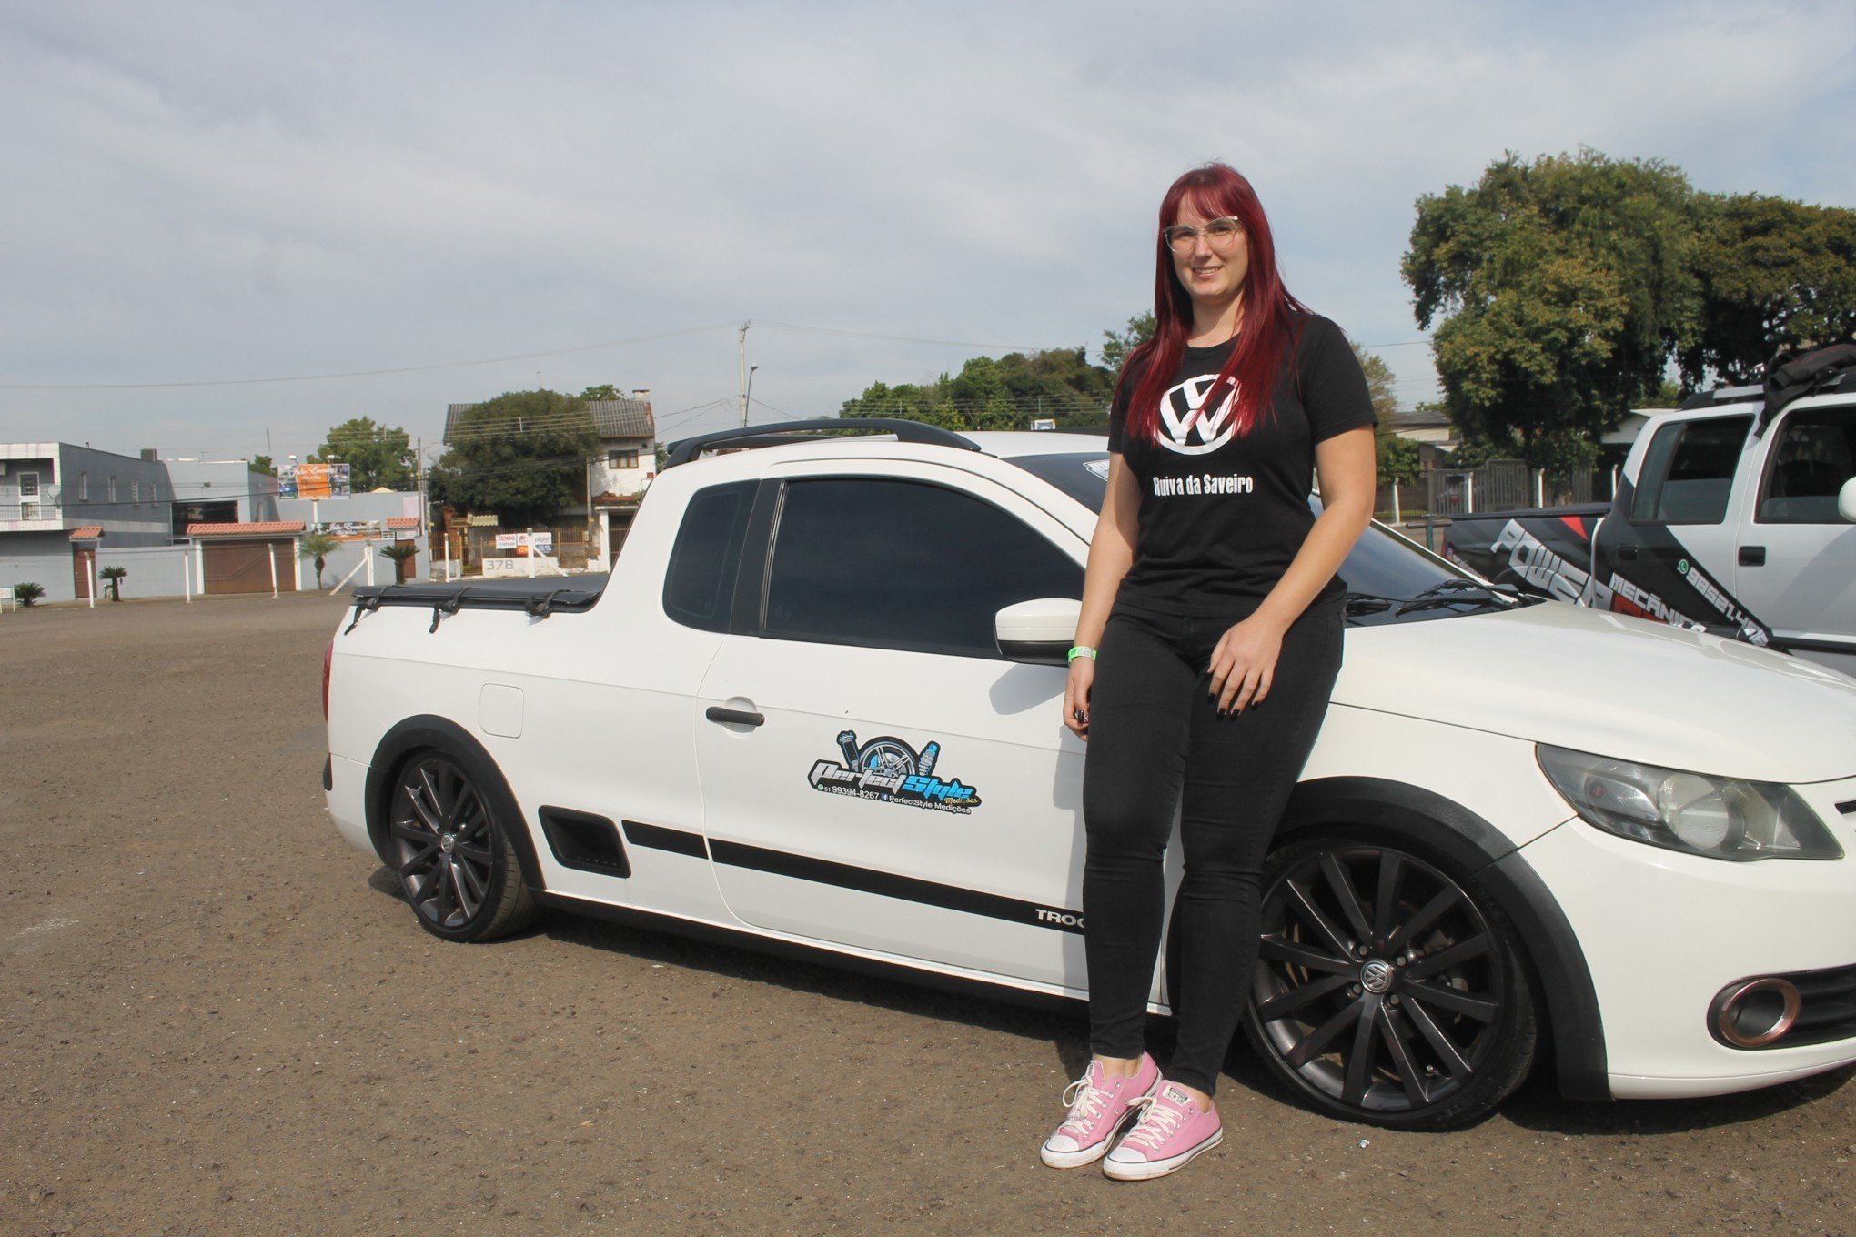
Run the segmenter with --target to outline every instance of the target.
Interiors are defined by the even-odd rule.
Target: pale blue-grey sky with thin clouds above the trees
[[[1513,150],[1856,208],[1856,6],[0,0],[0,441],[308,454],[650,389],[659,434],[1089,347],[1251,182],[1288,287],[1437,395],[1414,202]]]

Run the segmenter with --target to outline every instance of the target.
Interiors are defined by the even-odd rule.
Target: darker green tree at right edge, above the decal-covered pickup
[[[1689,389],[1750,382],[1782,351],[1856,336],[1856,210],[1708,195],[1700,219],[1702,330],[1680,356]]]

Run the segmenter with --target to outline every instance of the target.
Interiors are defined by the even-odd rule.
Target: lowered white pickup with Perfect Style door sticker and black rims
[[[356,595],[329,809],[421,927],[575,911],[1086,996],[1060,701],[1102,440],[852,425],[887,436],[681,443],[603,588]],[[1856,1061],[1856,682],[1379,527],[1342,575],[1245,1020],[1284,1090],[1438,1128],[1542,1037],[1581,1098]]]

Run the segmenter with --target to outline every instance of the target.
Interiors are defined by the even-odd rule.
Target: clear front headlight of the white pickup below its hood
[[[1546,744],[1535,751],[1566,803],[1589,823],[1622,838],[1737,862],[1843,859],[1824,822],[1789,786],[1665,770]]]

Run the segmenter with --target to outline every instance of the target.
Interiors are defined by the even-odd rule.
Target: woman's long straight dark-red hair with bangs
[[[1119,397],[1128,376],[1138,375],[1128,401],[1127,432],[1141,441],[1160,438],[1160,397],[1173,386],[1173,375],[1186,354],[1192,297],[1173,271],[1173,250],[1167,249],[1164,232],[1179,223],[1179,211],[1188,204],[1203,219],[1227,215],[1238,219],[1249,245],[1238,347],[1231,351],[1231,360],[1218,376],[1219,388],[1225,382],[1238,384],[1238,406],[1232,417],[1238,434],[1249,434],[1257,417],[1268,412],[1282,354],[1294,347],[1299,332],[1295,315],[1307,313],[1307,306],[1282,287],[1282,273],[1275,263],[1275,237],[1270,234],[1270,219],[1264,217],[1264,206],[1257,200],[1251,182],[1227,163],[1206,163],[1175,180],[1160,198],[1160,230],[1154,234],[1154,336],[1128,352],[1115,382]]]

